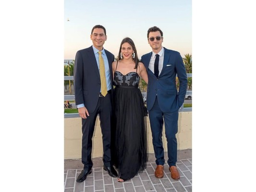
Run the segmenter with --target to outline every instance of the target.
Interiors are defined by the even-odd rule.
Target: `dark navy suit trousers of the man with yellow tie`
[[[89,113],[87,119],[82,119],[82,163],[84,169],[91,169],[93,166],[92,155],[92,137],[95,128],[97,115],[99,114],[100,128],[102,133],[103,143],[103,163],[105,166],[110,167],[110,139],[111,139],[111,124],[110,119],[112,115],[112,100],[111,94],[105,97],[100,96],[98,104],[94,112]]]

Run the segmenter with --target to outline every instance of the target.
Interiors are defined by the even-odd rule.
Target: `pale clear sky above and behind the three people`
[[[67,20],[70,21],[67,21]],[[106,28],[104,48],[118,54],[123,38],[130,37],[138,57],[152,51],[147,30],[163,32],[163,47],[192,54],[192,0],[64,0],[64,59],[74,59],[78,50],[92,45],[93,26]]]

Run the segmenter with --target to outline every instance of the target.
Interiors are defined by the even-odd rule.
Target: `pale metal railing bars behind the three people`
[[[187,77],[192,77],[192,73],[187,73]],[[74,76],[64,76],[64,81],[73,80],[73,79],[74,79]],[[192,91],[187,91],[186,95],[192,95]],[[64,101],[66,100],[74,100],[74,95],[65,95]],[[192,108],[184,108],[183,105],[179,109],[179,112],[192,111]],[[64,118],[77,118],[77,117],[80,117],[78,113],[64,113]]]

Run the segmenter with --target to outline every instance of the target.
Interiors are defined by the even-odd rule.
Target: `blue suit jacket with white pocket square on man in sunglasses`
[[[141,57],[141,62],[144,63],[148,75],[146,95],[147,110],[153,107],[156,96],[158,98],[159,107],[163,112],[178,110],[184,102],[187,90],[187,74],[183,59],[179,52],[164,48],[163,68],[157,78],[155,74],[148,69],[151,55],[152,52]],[[176,74],[180,81],[179,94],[176,88]]]

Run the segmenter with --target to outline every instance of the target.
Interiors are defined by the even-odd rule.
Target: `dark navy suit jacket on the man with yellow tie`
[[[112,62],[114,55],[105,49],[109,67],[111,89],[113,89],[112,81]],[[100,76],[95,54],[92,46],[77,51],[75,55],[74,65],[74,95],[75,105],[83,104],[88,112],[94,112],[97,107],[100,92]]]

